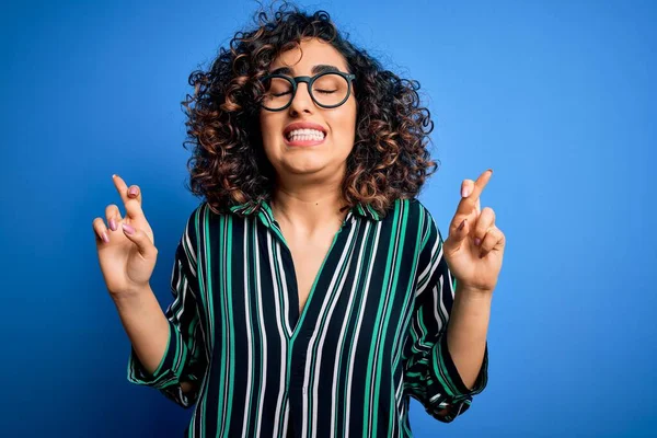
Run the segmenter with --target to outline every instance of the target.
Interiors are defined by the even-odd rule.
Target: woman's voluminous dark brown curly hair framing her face
[[[342,184],[343,209],[369,205],[383,217],[395,199],[416,196],[438,168],[427,150],[434,123],[420,106],[419,83],[354,46],[325,11],[308,14],[284,2],[254,19],[256,27],[237,32],[208,71],[189,74],[194,95],[182,102],[188,117],[184,146],[194,146],[187,188],[217,214],[243,204],[255,211],[270,199],[275,171],[262,145],[261,79],[279,54],[315,37],[331,43],[356,74],[356,138]]]

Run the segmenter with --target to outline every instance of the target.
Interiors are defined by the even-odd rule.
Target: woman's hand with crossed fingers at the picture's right
[[[457,284],[482,293],[493,293],[502,269],[505,237],[495,226],[495,212],[480,205],[480,196],[492,170],[461,184],[461,201],[449,226],[442,251]]]

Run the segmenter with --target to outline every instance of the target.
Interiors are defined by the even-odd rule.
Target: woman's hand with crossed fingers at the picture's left
[[[128,186],[118,175],[114,185],[124,203],[126,217],[122,218],[114,204],[105,208],[105,219],[93,220],[101,270],[113,297],[146,290],[155,267],[158,249],[153,231],[141,209],[141,191]],[[124,227],[126,229],[124,229]],[[134,233],[130,234],[130,229]]]

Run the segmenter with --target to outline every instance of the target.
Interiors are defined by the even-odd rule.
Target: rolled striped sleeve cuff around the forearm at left
[[[149,373],[130,345],[128,358],[128,381],[137,384],[164,389],[178,383],[182,367],[186,359],[186,348],[182,335],[169,321],[169,341],[162,360],[153,373]]]

